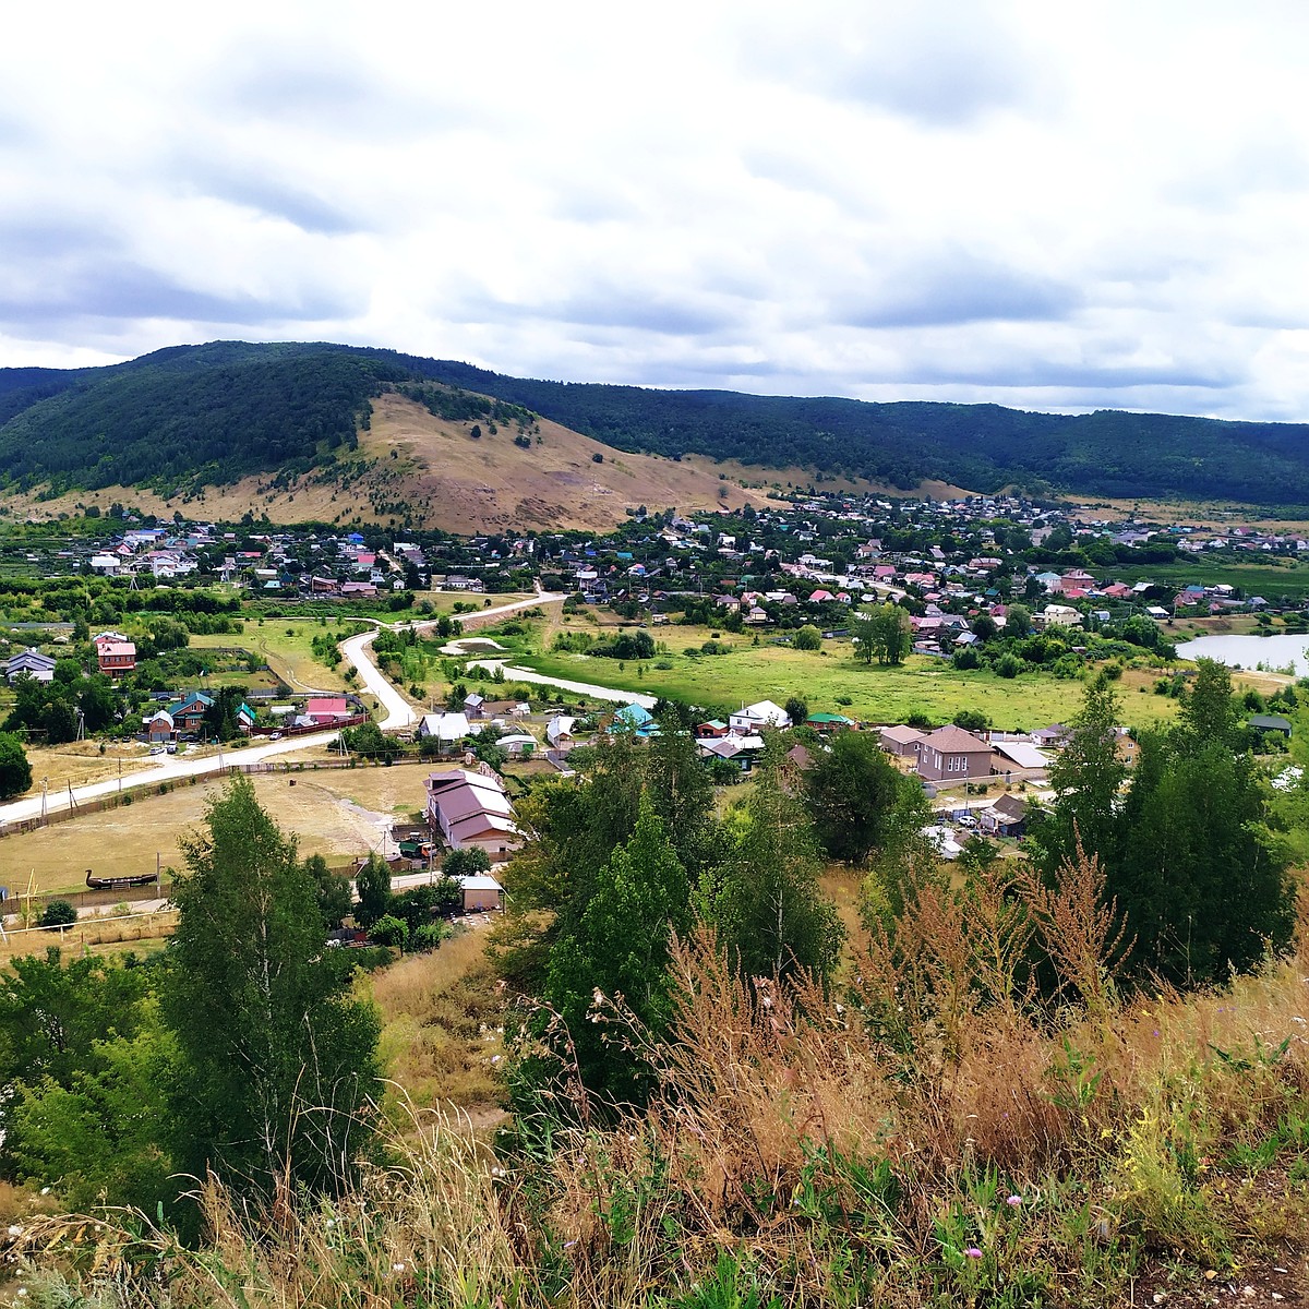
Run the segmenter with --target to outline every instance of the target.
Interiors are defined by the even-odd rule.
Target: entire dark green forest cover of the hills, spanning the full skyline
[[[0,483],[96,488],[304,471],[352,445],[368,401],[414,380],[522,406],[606,444],[910,488],[939,478],[1114,496],[1309,504],[1309,427],[996,404],[658,391],[505,377],[332,344],[179,346],[109,368],[0,369]]]

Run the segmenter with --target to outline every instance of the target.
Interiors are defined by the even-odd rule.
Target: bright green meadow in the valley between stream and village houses
[[[724,635],[730,653],[690,656],[711,631],[702,627],[664,627],[657,640],[668,647],[654,660],[637,665],[568,653],[525,653],[514,662],[545,675],[593,682],[647,695],[670,695],[692,704],[734,708],[762,699],[784,703],[800,695],[810,712],[842,712],[870,723],[902,723],[911,713],[925,713],[937,723],[961,709],[980,709],[996,728],[1024,729],[1066,720],[1081,703],[1077,681],[1058,681],[1041,673],[1013,679],[995,673],[961,672],[945,660],[911,656],[899,668],[856,664],[848,641],[825,641],[822,652],[804,652],[789,645],[759,645],[750,636]],[[670,668],[658,668],[658,664]],[[1139,670],[1123,674],[1123,717],[1128,725],[1145,725],[1172,717],[1175,703],[1164,696],[1138,694],[1152,687],[1155,675]],[[843,703],[842,698],[848,699]]]

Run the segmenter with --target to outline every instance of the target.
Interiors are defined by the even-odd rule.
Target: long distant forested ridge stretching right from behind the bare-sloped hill
[[[905,488],[923,478],[977,491],[1045,480],[1094,495],[1309,503],[1305,424],[656,391],[526,381],[445,363],[427,376],[525,404],[620,449],[844,471]]]

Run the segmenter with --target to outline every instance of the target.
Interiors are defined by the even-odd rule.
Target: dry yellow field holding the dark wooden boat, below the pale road
[[[302,855],[323,855],[344,864],[367,855],[391,818],[408,818],[423,808],[421,766],[339,768],[313,774],[258,775],[259,804],[300,842]],[[291,783],[295,781],[295,785]],[[168,795],[143,797],[69,822],[0,840],[0,867],[14,894],[82,889],[88,868],[98,873],[154,870],[182,860],[179,838],[204,816],[204,801],[221,792],[220,781],[179,785]]]

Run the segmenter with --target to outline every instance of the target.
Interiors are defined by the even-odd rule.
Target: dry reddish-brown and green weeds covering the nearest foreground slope
[[[711,939],[681,942],[665,1041],[620,1000],[594,1014],[652,1067],[648,1106],[588,1101],[555,1042],[533,1054],[562,1054],[558,1080],[493,1144],[415,1109],[335,1200],[249,1213],[211,1179],[199,1249],[141,1216],[18,1213],[21,1302],[1293,1302],[1309,958],[1123,999],[1096,876],[1069,869],[1046,899],[999,881],[969,902],[924,891],[839,994],[746,983]],[[1024,975],[1034,941],[1052,1005]]]

